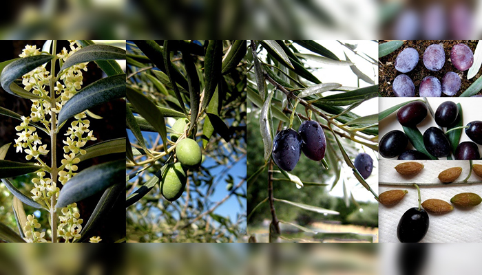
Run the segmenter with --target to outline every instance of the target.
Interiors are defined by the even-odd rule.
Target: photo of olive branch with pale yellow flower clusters
[[[123,241],[125,41],[0,48],[0,239]]]

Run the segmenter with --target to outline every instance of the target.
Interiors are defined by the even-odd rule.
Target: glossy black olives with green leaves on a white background
[[[410,102],[401,107],[397,112],[397,119],[402,126],[415,127],[425,120],[427,106],[421,101]],[[459,118],[459,108],[452,101],[446,101],[439,105],[435,112],[435,122],[440,127],[453,128]],[[455,152],[455,159],[480,159],[479,147],[482,144],[482,121],[472,121],[467,124],[465,133],[472,142],[461,142]],[[424,153],[415,150],[406,151],[408,137],[399,130],[386,133],[381,137],[379,153],[386,158],[398,156],[401,160],[430,159]],[[434,157],[446,157],[450,155],[451,146],[448,137],[440,128],[430,127],[423,133],[423,145],[430,155]]]

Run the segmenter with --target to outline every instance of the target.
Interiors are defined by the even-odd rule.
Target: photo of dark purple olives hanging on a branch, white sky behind
[[[248,42],[251,242],[378,242],[376,41]]]

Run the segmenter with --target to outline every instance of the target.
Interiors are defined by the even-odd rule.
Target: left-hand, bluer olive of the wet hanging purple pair
[[[273,161],[285,171],[295,168],[301,156],[301,137],[293,129],[285,129],[277,133],[273,140]]]

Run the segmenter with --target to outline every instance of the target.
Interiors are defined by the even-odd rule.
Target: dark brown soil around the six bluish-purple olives
[[[379,41],[379,44],[387,42],[386,40],[381,40]],[[460,96],[465,89],[467,89],[472,83],[474,83],[477,78],[479,78],[482,75],[481,70],[473,77],[470,78],[469,80],[467,79],[467,72],[461,72],[457,68],[454,67],[452,62],[450,61],[450,50],[452,50],[452,46],[455,44],[465,44],[470,47],[470,50],[472,52],[475,51],[475,47],[478,43],[478,40],[407,40],[404,41],[404,44],[399,47],[395,52],[392,52],[391,54],[388,54],[387,56],[379,58],[379,94],[380,96],[385,96],[385,97],[392,97],[395,96],[393,94],[392,90],[392,83],[395,77],[397,77],[401,72],[398,72],[395,69],[395,59],[397,58],[398,54],[406,49],[407,47],[412,47],[417,52],[419,52],[419,63],[417,63],[417,66],[415,69],[413,69],[411,72],[406,73],[407,76],[409,76],[413,84],[415,84],[415,96],[419,96],[419,85],[421,83],[421,80],[426,77],[426,76],[435,76],[438,78],[440,81],[442,80],[443,76],[447,72],[455,72],[457,73],[460,78],[461,78],[461,88],[457,94],[454,96]],[[433,72],[428,70],[424,65],[423,65],[423,52],[425,52],[425,49],[432,45],[432,44],[443,44],[443,50],[446,52],[446,62],[443,64],[443,67],[440,71],[438,72]],[[482,92],[479,92],[479,95],[481,95]],[[442,96],[446,96],[445,94],[442,94]]]

